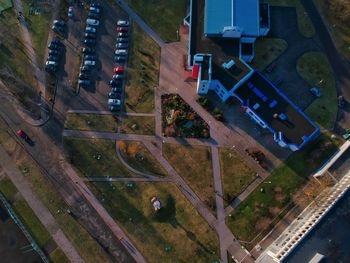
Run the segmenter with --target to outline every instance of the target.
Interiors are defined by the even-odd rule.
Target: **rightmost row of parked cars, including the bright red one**
[[[113,69],[114,75],[109,81],[111,92],[108,93],[108,109],[110,111],[118,111],[122,106],[122,91],[124,83],[124,62],[128,55],[128,29],[129,21],[117,21],[117,37],[114,52],[115,67]]]

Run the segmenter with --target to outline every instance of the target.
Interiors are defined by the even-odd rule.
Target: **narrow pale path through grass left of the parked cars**
[[[23,11],[21,0],[13,0],[14,7],[16,9],[17,14],[19,12],[22,12],[22,14],[25,14]],[[16,15],[17,15],[16,14]],[[43,71],[40,69],[36,54],[34,51],[33,43],[29,34],[29,30],[27,27],[27,23],[23,18],[19,20],[19,26],[21,28],[21,33],[24,41],[24,46],[27,49],[27,54],[29,56],[29,59],[31,61],[31,64],[34,69],[34,77],[37,80],[38,88],[42,94],[42,96],[45,98],[46,88],[45,88],[45,75],[43,74]]]

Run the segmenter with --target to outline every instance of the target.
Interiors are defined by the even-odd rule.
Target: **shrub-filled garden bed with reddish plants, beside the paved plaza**
[[[177,94],[162,96],[162,128],[170,137],[210,137],[209,125]]]

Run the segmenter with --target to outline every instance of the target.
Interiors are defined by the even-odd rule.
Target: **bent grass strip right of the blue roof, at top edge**
[[[305,12],[303,5],[300,0],[270,0],[270,5],[272,6],[294,6],[296,8],[298,17],[298,28],[299,32],[304,37],[314,37],[316,34],[315,28]]]

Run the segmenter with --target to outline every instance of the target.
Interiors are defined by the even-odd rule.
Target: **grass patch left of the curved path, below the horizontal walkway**
[[[132,177],[120,162],[112,140],[65,139],[68,160],[84,176]]]

